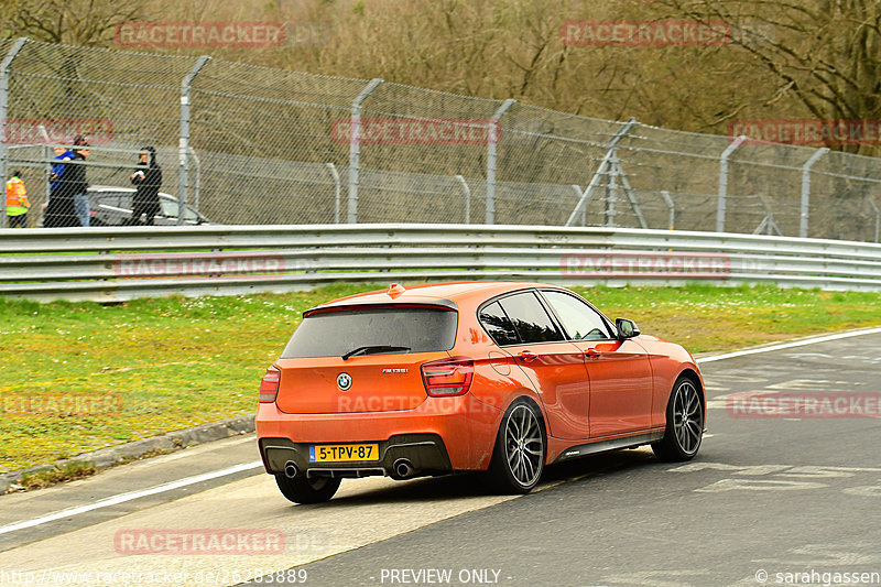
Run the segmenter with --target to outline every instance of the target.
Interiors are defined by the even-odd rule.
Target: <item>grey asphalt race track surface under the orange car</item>
[[[784,347],[701,360],[694,461],[590,457],[525,497],[472,476],[369,478],[293,506],[254,466],[252,435],[2,496],[0,585],[881,585],[881,329]],[[124,542],[193,531],[278,548]]]

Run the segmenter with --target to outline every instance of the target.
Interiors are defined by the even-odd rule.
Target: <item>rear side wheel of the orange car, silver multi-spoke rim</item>
[[[539,485],[547,436],[539,407],[524,398],[505,410],[490,460],[490,485],[501,493],[529,493]]]

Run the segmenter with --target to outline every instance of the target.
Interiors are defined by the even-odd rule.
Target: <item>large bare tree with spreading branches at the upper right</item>
[[[722,20],[744,57],[770,74],[764,106],[796,101],[820,120],[881,117],[878,0],[665,0],[681,14]],[[869,148],[863,146],[863,151]],[[859,150],[859,146],[849,150]]]

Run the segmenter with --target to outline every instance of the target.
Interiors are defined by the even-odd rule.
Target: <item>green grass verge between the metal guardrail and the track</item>
[[[304,309],[370,291],[165,297],[120,305],[0,298],[0,471],[253,412]],[[576,289],[610,318],[693,352],[881,324],[874,293],[772,286]]]

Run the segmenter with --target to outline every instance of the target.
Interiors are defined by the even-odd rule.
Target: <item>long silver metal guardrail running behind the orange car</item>
[[[0,230],[0,295],[118,302],[336,281],[766,282],[881,291],[881,244],[739,233],[476,225]]]

